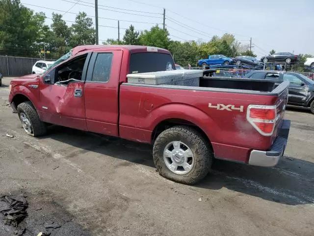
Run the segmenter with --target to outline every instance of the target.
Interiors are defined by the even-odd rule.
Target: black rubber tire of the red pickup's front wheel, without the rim
[[[21,119],[20,114],[24,113],[27,119],[30,121],[31,132],[30,133],[26,132],[26,134],[33,137],[38,137],[45,135],[47,133],[46,124],[40,120],[36,109],[34,108],[33,104],[30,101],[19,104],[17,110],[20,119]]]

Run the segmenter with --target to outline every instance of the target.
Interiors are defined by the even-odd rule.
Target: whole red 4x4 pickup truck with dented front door
[[[278,163],[290,127],[289,82],[201,76],[198,87],[128,83],[128,74],[169,69],[175,64],[164,49],[78,46],[43,74],[12,80],[9,102],[34,137],[57,124],[153,144],[160,175],[182,183],[205,177],[213,158]]]

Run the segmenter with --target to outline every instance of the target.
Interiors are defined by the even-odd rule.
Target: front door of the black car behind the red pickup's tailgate
[[[284,74],[284,80],[290,81],[288,102],[293,104],[304,104],[308,94],[308,86],[292,74]]]

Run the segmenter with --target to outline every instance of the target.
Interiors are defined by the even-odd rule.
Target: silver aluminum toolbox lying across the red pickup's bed
[[[201,76],[203,76],[203,70],[167,70],[127,75],[128,83],[197,87]]]

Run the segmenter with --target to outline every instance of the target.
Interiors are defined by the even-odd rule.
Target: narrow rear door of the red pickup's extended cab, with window
[[[88,66],[85,94],[87,129],[118,136],[119,76],[123,52],[94,52]]]

